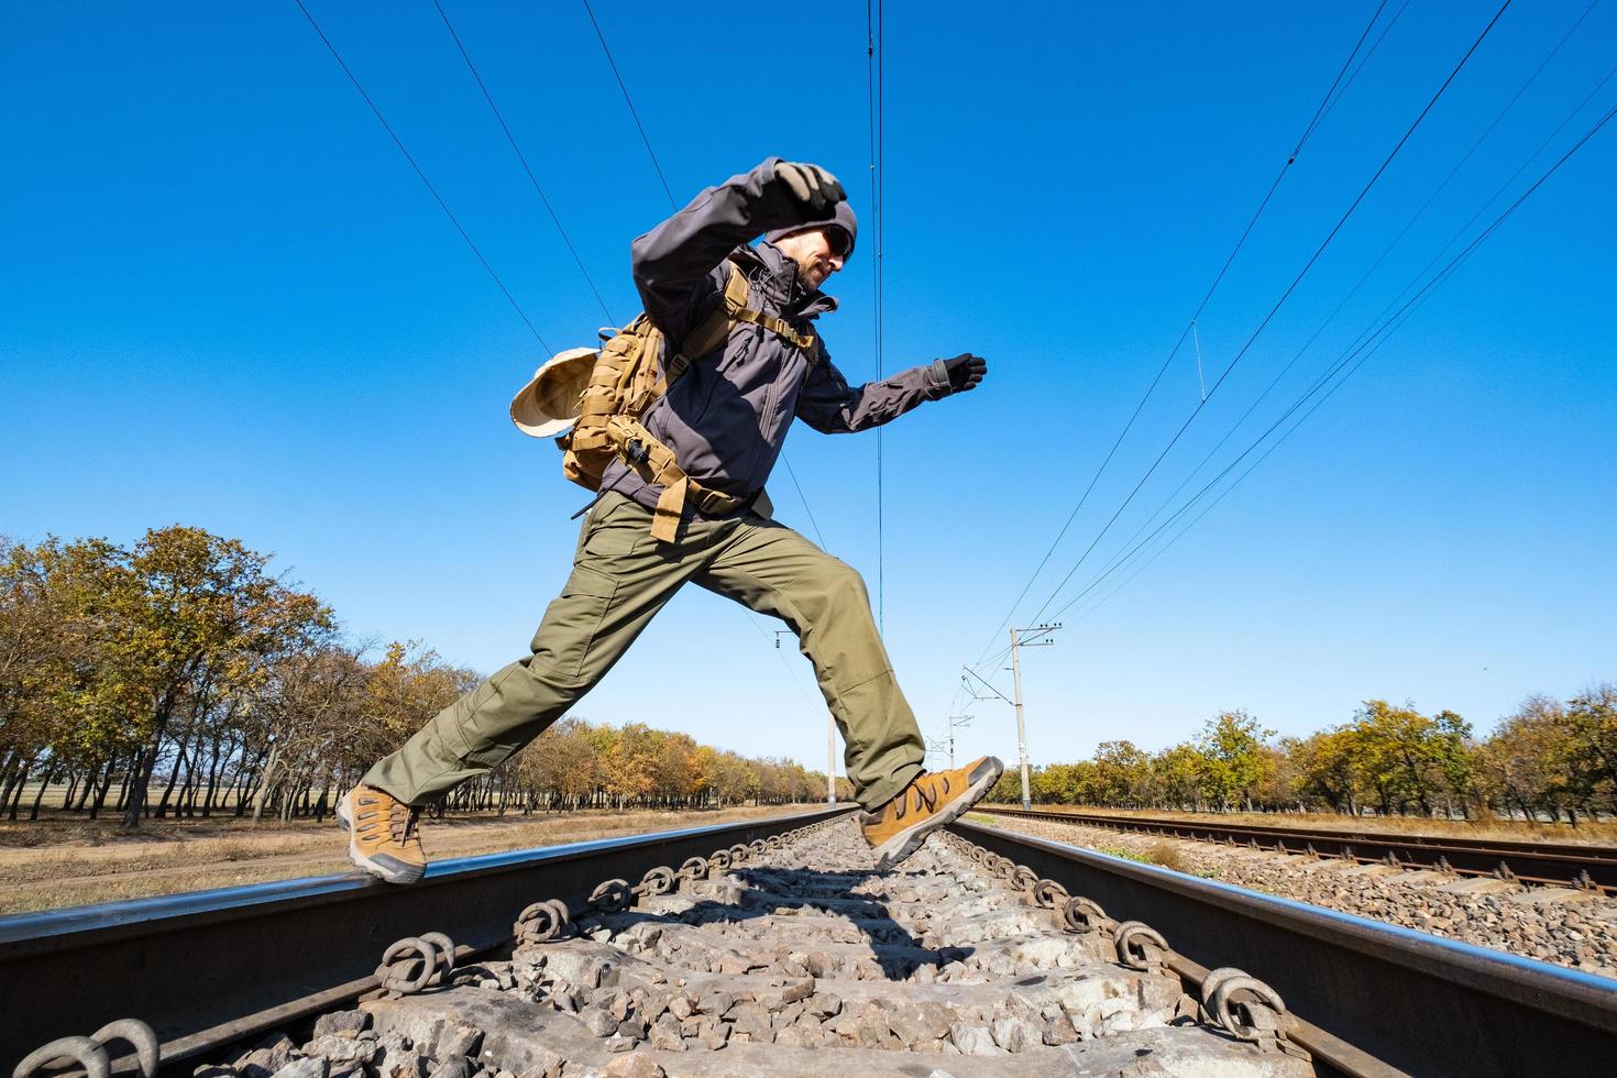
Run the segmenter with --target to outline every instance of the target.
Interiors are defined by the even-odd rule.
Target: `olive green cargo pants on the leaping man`
[[[860,805],[889,802],[922,771],[925,742],[854,569],[754,512],[687,520],[676,543],[658,543],[652,512],[608,493],[579,530],[572,575],[545,611],[534,655],[440,711],[375,764],[365,785],[425,805],[496,768],[593,688],[687,580],[792,627],[842,731]],[[690,684],[723,676],[711,648],[692,646],[682,661],[695,674]],[[758,708],[770,711],[763,700]]]

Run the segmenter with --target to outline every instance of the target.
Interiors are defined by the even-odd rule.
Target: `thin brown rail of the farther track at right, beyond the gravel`
[[[1334,827],[1271,827],[1224,824],[1166,816],[1114,816],[1109,813],[1003,808],[978,805],[973,811],[1079,823],[1112,831],[1137,831],[1171,839],[1234,842],[1287,853],[1316,853],[1362,863],[1397,861],[1408,868],[1438,868],[1462,876],[1501,876],[1559,887],[1617,891],[1617,849],[1567,842],[1512,842],[1450,836],[1391,836]]]

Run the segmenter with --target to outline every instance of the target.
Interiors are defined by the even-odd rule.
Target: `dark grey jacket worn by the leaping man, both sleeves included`
[[[634,283],[645,314],[669,341],[682,341],[724,291],[724,262],[747,275],[749,304],[805,330],[836,301],[807,291],[797,263],[775,244],[747,246],[760,233],[807,225],[804,205],[778,179],[771,157],[752,171],[708,187],[690,205],[634,241]],[[836,435],[880,427],[922,401],[949,394],[941,360],[912,367],[883,381],[849,386],[831,362],[825,341],[815,362],[770,330],[742,322],[708,356],[692,357],[666,396],[647,409],[645,428],[673,449],[679,467],[703,486],[736,498],[757,498],[781,454],[792,419]],[[661,486],[640,478],[621,461],[602,477],[652,509]],[[697,514],[687,503],[687,514]],[[697,514],[700,516],[700,514]]]

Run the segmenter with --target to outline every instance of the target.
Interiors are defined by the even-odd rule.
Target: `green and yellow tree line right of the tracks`
[[[1208,719],[1156,753],[1101,742],[1088,760],[1038,768],[1045,805],[1188,811],[1334,811],[1562,819],[1617,813],[1617,685],[1531,697],[1483,739],[1454,711],[1366,700],[1352,721],[1274,737],[1245,711]],[[990,794],[1020,802],[1015,769]]]

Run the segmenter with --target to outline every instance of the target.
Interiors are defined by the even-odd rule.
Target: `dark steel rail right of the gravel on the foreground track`
[[[951,829],[1145,921],[1192,963],[1261,978],[1324,1038],[1384,1065],[1423,1076],[1572,1075],[1609,1073],[1617,1059],[1617,981],[1001,827],[962,819]]]

